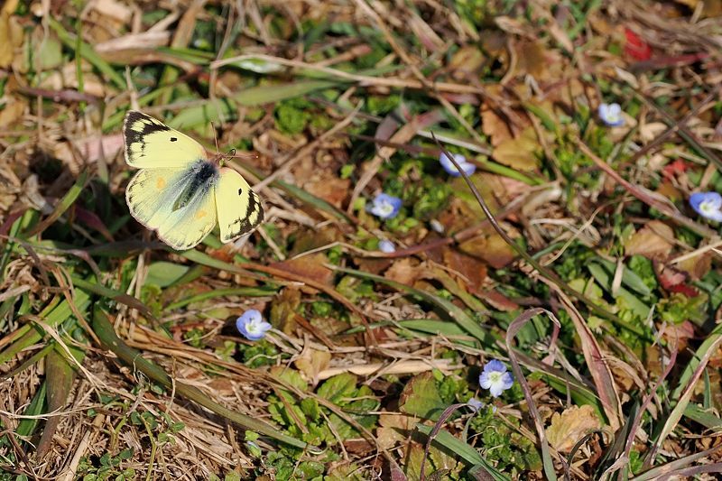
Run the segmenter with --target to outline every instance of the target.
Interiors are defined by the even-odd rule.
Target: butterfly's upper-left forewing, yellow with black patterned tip
[[[125,115],[123,136],[125,162],[139,169],[182,168],[206,158],[200,143],[136,110]]]

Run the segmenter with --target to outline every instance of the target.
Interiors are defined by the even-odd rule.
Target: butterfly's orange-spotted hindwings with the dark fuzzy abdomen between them
[[[199,178],[202,163],[188,170],[143,169],[125,190],[133,217],[176,250],[198,245],[216,226],[218,176]]]

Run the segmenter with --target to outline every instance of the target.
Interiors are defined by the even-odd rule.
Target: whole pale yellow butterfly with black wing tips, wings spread
[[[230,242],[264,220],[261,201],[241,174],[152,116],[125,115],[125,162],[140,169],[125,190],[135,219],[176,250],[190,249],[216,227]]]

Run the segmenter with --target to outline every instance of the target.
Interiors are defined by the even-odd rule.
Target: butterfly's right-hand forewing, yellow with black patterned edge
[[[216,206],[223,243],[252,232],[264,220],[261,199],[241,174],[228,167],[220,169]]]

